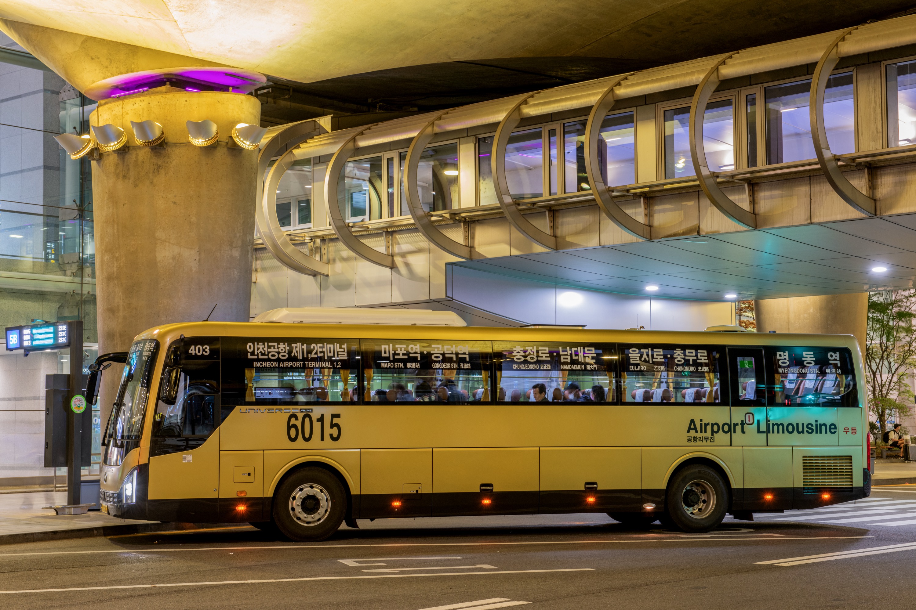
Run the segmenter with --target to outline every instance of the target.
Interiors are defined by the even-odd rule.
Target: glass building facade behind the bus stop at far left
[[[0,47],[23,50],[3,34]],[[0,62],[0,326],[82,320],[84,369],[98,353],[92,162],[72,160],[54,136],[88,132],[94,108],[50,71]],[[67,350],[0,350],[0,374],[40,379],[67,372],[69,360]],[[49,484],[44,396],[20,385],[3,389],[0,430],[16,430],[16,441],[0,443],[0,486]],[[83,474],[97,475],[97,409],[93,427],[93,466]]]

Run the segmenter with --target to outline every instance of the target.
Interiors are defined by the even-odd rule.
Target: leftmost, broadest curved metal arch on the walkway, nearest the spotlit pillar
[[[277,185],[283,173],[292,164],[292,151],[302,142],[321,134],[322,127],[318,121],[301,121],[285,126],[285,129],[270,138],[258,155],[255,206],[257,232],[261,234],[267,251],[284,267],[308,276],[327,276],[329,275],[328,264],[305,254],[292,245],[289,235],[283,231],[277,219]],[[284,146],[289,146],[289,150],[270,169],[270,174],[265,181],[264,174],[270,158]]]

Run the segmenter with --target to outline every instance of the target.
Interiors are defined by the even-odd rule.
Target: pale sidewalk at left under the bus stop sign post
[[[58,516],[53,510],[42,510],[61,504],[67,504],[67,492],[0,494],[0,544],[187,528],[186,524],[119,519],[99,511]]]

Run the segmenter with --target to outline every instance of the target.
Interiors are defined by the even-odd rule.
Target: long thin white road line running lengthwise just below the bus
[[[876,517],[880,518],[880,517]],[[0,557],[31,557],[36,555],[91,555],[93,553],[174,553],[190,552],[196,550],[300,550],[300,549],[362,549],[367,547],[378,548],[407,548],[407,547],[507,547],[529,546],[537,544],[628,544],[633,542],[710,542],[716,541],[747,541],[760,540],[763,542],[780,542],[782,540],[848,540],[876,538],[875,536],[781,536],[779,538],[653,538],[653,539],[623,539],[623,540],[538,540],[529,542],[404,542],[393,544],[314,544],[314,545],[289,545],[286,547],[203,547],[201,549],[100,549],[100,550],[46,550],[27,553],[0,553]]]

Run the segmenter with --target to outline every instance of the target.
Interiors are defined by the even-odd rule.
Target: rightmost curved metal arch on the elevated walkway
[[[823,176],[836,191],[836,194],[859,212],[874,216],[877,213],[875,200],[856,189],[852,182],[847,180],[843,172],[840,171],[840,165],[836,162],[836,157],[830,149],[830,142],[827,141],[827,129],[823,122],[823,103],[827,92],[827,81],[830,80],[830,72],[834,70],[836,64],[840,61],[836,47],[855,29],[856,27],[851,27],[836,37],[834,42],[823,51],[821,60],[817,62],[817,67],[814,69],[814,75],[811,79],[811,99],[809,101],[811,137],[814,144],[814,154],[817,155],[817,162],[821,166]]]

